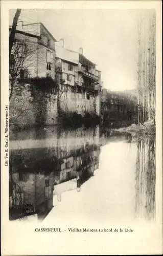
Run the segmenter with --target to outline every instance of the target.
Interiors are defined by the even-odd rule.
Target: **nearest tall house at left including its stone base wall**
[[[10,93],[13,91],[10,112],[14,117],[18,108],[23,106],[24,113],[11,120],[18,127],[21,125],[20,128],[52,125],[58,121],[55,42],[56,39],[42,23],[22,23],[16,28],[10,61],[10,89],[15,78],[18,83],[14,84],[14,90],[10,90]],[[48,97],[45,97],[47,93]]]

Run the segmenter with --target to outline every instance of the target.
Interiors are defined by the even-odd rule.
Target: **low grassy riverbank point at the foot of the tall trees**
[[[131,126],[128,127],[123,127],[120,128],[119,130],[117,130],[119,133],[135,133],[137,135],[142,135],[142,136],[146,136],[146,137],[152,137],[155,136],[155,124],[153,122],[153,120],[144,122],[144,123],[140,123],[139,127],[138,124],[131,124]]]

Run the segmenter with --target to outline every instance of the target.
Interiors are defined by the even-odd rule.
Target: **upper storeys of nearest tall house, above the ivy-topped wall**
[[[21,23],[17,26],[12,54],[17,54],[18,50],[19,61],[20,58],[24,59],[20,67],[21,78],[55,78],[55,42],[56,39],[42,23]],[[14,60],[16,61],[13,56]]]

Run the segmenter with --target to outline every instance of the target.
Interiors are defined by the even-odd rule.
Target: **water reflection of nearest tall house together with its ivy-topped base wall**
[[[38,140],[35,140],[38,142]],[[54,141],[54,140],[53,140]],[[21,142],[24,142],[23,140]],[[40,147],[32,146],[29,139],[22,143],[22,148],[10,150],[10,214],[16,208],[22,214],[22,207],[31,204],[40,218],[53,207],[54,166],[57,170],[56,148],[45,147],[46,142],[40,140]],[[35,142],[35,143],[36,143]],[[21,143],[20,143],[21,145]],[[20,146],[18,145],[18,147]],[[23,148],[23,145],[27,148]],[[47,145],[50,145],[47,143]],[[12,169],[11,169],[12,166]],[[13,216],[13,217],[12,217]]]

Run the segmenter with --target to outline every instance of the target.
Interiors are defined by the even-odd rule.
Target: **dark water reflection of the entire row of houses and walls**
[[[9,217],[24,217],[26,204],[38,219],[61,201],[67,190],[77,189],[99,168],[99,127],[63,131],[57,127],[30,130],[10,137]]]

